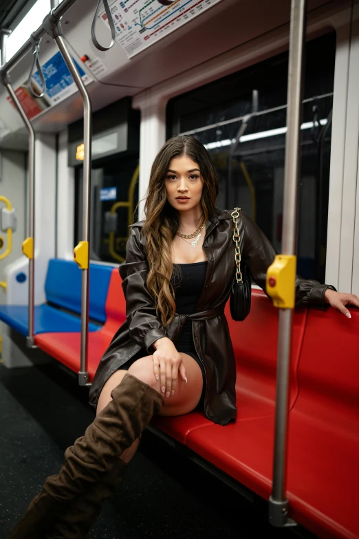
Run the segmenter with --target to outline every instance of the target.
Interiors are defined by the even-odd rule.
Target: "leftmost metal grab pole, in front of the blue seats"
[[[1,66],[6,63],[6,40],[10,32],[8,30],[1,30]],[[8,76],[7,71],[1,70],[1,81],[8,93],[14,102],[15,107],[19,111],[23,122],[25,123],[26,128],[29,131],[29,221],[28,221],[28,237],[25,242],[23,242],[23,253],[29,259],[29,295],[28,295],[28,317],[29,317],[29,326],[28,326],[28,337],[26,337],[26,344],[28,348],[36,348],[34,345],[34,237],[35,237],[35,131],[32,127],[28,116],[26,116],[23,107],[17,94],[14,92],[14,89],[10,83],[10,77]]]

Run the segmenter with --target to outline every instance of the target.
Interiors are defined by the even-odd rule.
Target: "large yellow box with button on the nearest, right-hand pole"
[[[274,307],[293,309],[295,305],[296,256],[276,255],[267,270],[265,289]]]

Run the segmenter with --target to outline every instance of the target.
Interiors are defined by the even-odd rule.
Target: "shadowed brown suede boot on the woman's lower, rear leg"
[[[120,458],[102,480],[67,506],[67,511],[58,518],[47,533],[47,539],[85,539],[100,514],[102,502],[114,496],[128,465]]]

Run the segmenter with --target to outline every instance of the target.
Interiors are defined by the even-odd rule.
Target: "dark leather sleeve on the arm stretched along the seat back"
[[[245,213],[243,217],[242,260],[247,264],[254,281],[265,291],[267,269],[274,261],[276,251],[265,234]],[[296,306],[324,306],[327,284],[296,276]],[[330,286],[333,290],[335,288]]]

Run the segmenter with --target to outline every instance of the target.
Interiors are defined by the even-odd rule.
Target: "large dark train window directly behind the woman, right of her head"
[[[305,52],[297,271],[324,282],[335,32],[309,41]],[[241,207],[279,252],[287,68],[285,52],[177,96],[167,107],[167,138],[193,134],[206,145],[219,173],[217,206]],[[256,101],[258,114],[246,118]],[[235,145],[243,117],[248,125]]]

